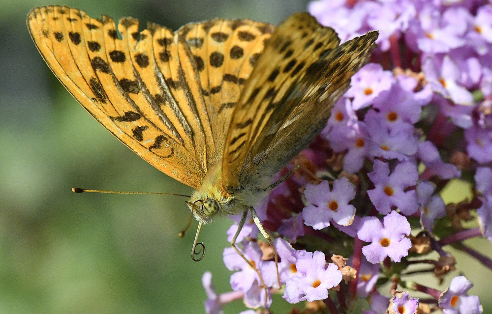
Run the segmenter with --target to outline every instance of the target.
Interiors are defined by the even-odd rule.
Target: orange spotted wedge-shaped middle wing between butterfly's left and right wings
[[[241,90],[274,27],[251,20],[214,19],[177,31],[180,63],[194,112],[205,126],[209,160],[221,160],[226,132]],[[195,70],[196,69],[196,70]],[[200,101],[196,101],[200,100]],[[212,167],[213,164],[208,164]]]

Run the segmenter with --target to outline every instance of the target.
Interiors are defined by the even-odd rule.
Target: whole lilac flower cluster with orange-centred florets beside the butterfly
[[[317,0],[308,9],[342,41],[379,30],[378,48],[293,161],[300,169],[255,206],[277,237],[278,263],[254,224],[237,239],[250,263],[224,250],[233,292],[250,308],[268,308],[271,294],[283,293],[290,303],[323,300],[331,313],[347,312],[357,298],[369,300],[365,313],[416,313],[424,305],[482,313],[463,276],[442,292],[405,273],[422,263],[422,272],[431,266],[442,279],[456,262],[443,246],[474,236],[492,242],[492,3]],[[457,204],[440,196],[453,179],[472,187]],[[461,225],[475,216],[479,227]],[[426,255],[432,251],[436,260]],[[473,248],[465,252],[492,265]],[[327,261],[334,255],[350,266]],[[392,296],[382,295],[389,282]],[[397,293],[402,288],[411,291]],[[207,313],[220,313],[220,296],[206,289]],[[419,302],[412,291],[431,298]]]

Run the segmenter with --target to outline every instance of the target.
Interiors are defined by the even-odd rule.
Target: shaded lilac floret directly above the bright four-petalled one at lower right
[[[405,191],[408,187],[417,183],[418,172],[415,164],[410,162],[400,163],[390,174],[387,163],[375,160],[373,169],[368,175],[375,188],[369,190],[368,195],[380,213],[389,213],[392,206],[398,207],[405,215],[411,215],[417,211],[415,190]]]

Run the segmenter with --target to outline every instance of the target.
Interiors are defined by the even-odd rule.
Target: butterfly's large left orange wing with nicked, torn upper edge
[[[119,39],[110,17],[92,19],[66,6],[34,8],[27,23],[49,67],[89,113],[157,169],[200,187],[223,151],[224,140],[217,146],[214,139],[225,134],[212,134],[211,108],[220,105],[203,96],[200,86],[208,86],[210,76],[199,75],[192,41],[156,24],[139,33],[132,18],[120,20]],[[202,47],[208,50],[209,43]],[[236,73],[246,79],[250,68],[238,66]]]

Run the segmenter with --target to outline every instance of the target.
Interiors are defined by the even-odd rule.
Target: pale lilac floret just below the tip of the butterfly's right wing
[[[371,105],[372,100],[382,91],[389,90],[394,82],[390,71],[383,71],[380,64],[369,63],[352,76],[345,97],[353,97],[352,109],[359,110]]]

